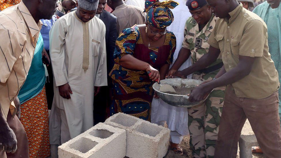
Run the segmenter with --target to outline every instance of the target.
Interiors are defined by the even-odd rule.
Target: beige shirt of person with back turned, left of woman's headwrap
[[[143,11],[143,8],[133,5],[122,4],[116,7],[112,14],[117,18],[118,35],[125,28],[131,28],[135,24],[144,24],[146,14]]]

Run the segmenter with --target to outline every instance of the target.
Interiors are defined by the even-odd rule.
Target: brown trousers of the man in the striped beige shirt
[[[14,154],[7,153],[7,155],[3,150],[0,150],[0,157],[1,158],[5,158],[5,157],[7,157],[7,158],[18,158],[18,157],[28,158],[29,157],[28,140],[27,140],[26,132],[24,130],[22,123],[20,123],[20,120],[18,119],[17,116],[15,116],[13,118],[10,111],[7,116],[7,123],[16,135],[18,149]]]

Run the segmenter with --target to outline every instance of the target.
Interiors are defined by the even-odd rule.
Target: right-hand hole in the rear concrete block
[[[146,123],[146,122],[141,123],[138,127],[136,127],[135,130],[140,133],[152,136],[152,137],[157,136],[157,134],[159,134],[160,131],[162,131],[162,129],[160,127],[155,126],[151,123]]]

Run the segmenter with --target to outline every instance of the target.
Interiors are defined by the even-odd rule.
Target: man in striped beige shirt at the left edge
[[[0,12],[0,157],[29,157],[14,100],[31,65],[41,29],[39,20],[51,19],[55,11],[56,0],[22,0]]]

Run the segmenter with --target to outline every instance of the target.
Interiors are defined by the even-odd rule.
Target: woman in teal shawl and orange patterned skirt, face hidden
[[[20,122],[26,132],[30,158],[50,156],[46,77],[42,55],[49,57],[43,49],[43,38],[40,33],[26,80],[18,94]]]

